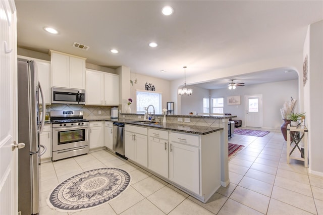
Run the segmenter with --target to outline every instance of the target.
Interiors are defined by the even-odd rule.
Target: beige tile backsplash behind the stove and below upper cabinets
[[[50,111],[83,111],[84,119],[110,118],[111,109],[115,106],[92,106],[84,104],[50,104],[46,105],[46,112]],[[100,114],[99,114],[100,112]]]

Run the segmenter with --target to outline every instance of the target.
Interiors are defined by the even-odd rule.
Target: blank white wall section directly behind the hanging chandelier
[[[193,89],[190,96],[183,95],[181,100],[181,114],[189,114],[190,112],[203,113],[203,97],[209,97],[209,90],[195,86],[187,86]]]

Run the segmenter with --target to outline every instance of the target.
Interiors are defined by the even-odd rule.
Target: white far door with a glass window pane
[[[246,96],[246,126],[262,127],[262,95]]]

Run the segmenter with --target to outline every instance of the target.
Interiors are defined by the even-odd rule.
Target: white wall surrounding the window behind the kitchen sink
[[[130,79],[133,84],[131,85]],[[137,74],[137,84],[135,84],[136,74],[130,73],[130,79],[128,80],[128,84],[130,87],[130,98],[132,98],[133,102],[131,104],[131,113],[136,113],[136,90],[145,90],[145,84],[151,83],[155,86],[155,91],[147,91],[147,92],[160,92],[161,93],[161,109],[167,109],[167,102],[172,101],[170,96],[170,81],[154,78],[150,76]],[[127,98],[128,99],[128,98]],[[126,102],[125,102],[126,103]]]

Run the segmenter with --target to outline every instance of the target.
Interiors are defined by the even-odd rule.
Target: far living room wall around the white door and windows
[[[188,86],[191,87],[191,86]],[[200,90],[199,90],[200,89]],[[208,90],[207,90],[208,91]],[[196,96],[189,96],[189,99],[181,99],[181,112],[186,114],[186,110],[191,110],[186,103],[188,100],[193,107],[201,105],[203,108],[203,95],[207,94],[205,89],[193,89],[193,94]],[[285,101],[288,101],[292,96],[294,99],[298,98],[298,80],[280,81],[265,84],[255,84],[244,87],[237,87],[234,90],[228,88],[209,90],[211,97],[224,97],[224,113],[237,115],[237,118],[242,120],[242,126],[245,126],[245,96],[252,94],[262,94],[262,114],[263,125],[262,128],[279,129],[283,124],[280,114],[280,109],[283,107]],[[233,95],[240,95],[240,105],[227,105],[227,97]],[[187,106],[188,107],[187,107]],[[185,112],[186,111],[186,112]],[[200,112],[202,113],[203,109]]]

